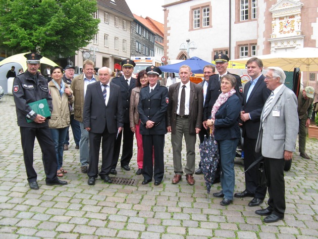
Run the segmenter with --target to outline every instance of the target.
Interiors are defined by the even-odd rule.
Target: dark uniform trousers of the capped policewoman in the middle
[[[143,142],[143,166],[142,175],[145,180],[162,181],[164,178],[164,146],[165,134],[142,135]],[[154,152],[154,164],[152,161]]]

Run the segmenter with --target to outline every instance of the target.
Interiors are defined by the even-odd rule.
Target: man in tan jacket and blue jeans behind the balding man
[[[87,85],[98,81],[94,75],[94,63],[86,60],[83,63],[83,73],[76,76],[71,83],[71,89],[74,94],[74,119],[80,122],[81,139],[80,139],[80,163],[82,173],[87,173],[89,162],[89,147],[88,147],[88,131],[83,125],[83,109],[84,99]]]

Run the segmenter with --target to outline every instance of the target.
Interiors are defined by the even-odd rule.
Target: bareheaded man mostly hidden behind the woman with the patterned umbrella
[[[202,82],[198,83],[198,85],[201,85],[203,88],[203,106],[205,103],[205,97],[206,97],[206,90],[207,90],[207,85],[208,85],[208,79],[211,75],[214,75],[216,73],[216,67],[213,65],[206,65],[203,68],[203,76],[204,79],[202,80]],[[202,112],[203,115],[203,112]],[[200,139],[200,144],[202,144],[204,137],[209,135],[208,134],[208,130],[206,130],[205,128],[201,128],[200,132],[199,132],[199,139]],[[201,169],[201,165],[199,164],[199,168],[197,170],[195,170],[195,174],[202,174],[202,169]]]

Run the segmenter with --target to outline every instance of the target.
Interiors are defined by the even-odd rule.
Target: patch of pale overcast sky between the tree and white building
[[[130,11],[138,16],[150,17],[164,24],[164,0],[126,0]]]

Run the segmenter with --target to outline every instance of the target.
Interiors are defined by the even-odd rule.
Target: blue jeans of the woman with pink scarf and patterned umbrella
[[[225,199],[233,200],[235,186],[234,158],[238,138],[218,140],[221,157],[221,186]]]

